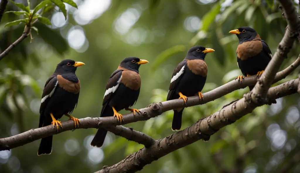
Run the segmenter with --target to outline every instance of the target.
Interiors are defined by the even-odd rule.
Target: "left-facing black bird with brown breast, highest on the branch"
[[[241,27],[232,31],[238,37],[238,48],[236,49],[238,68],[244,76],[256,75],[259,78],[272,58],[268,44],[263,41],[257,32],[250,27]],[[242,81],[244,76],[235,79]],[[254,86],[249,86],[252,90]],[[276,103],[272,100],[271,103]]]

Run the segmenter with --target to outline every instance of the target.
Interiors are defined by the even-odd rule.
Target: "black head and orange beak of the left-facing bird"
[[[231,34],[236,34],[238,36],[239,43],[243,43],[245,41],[251,41],[257,36],[257,32],[250,27],[241,27],[238,29],[234,29],[229,31]]]

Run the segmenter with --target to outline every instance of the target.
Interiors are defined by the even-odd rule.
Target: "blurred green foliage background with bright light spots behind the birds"
[[[32,43],[29,38],[22,41],[0,63],[0,138],[38,127],[42,89],[62,59],[86,64],[76,72],[81,92],[73,116],[97,117],[107,80],[125,57],[137,56],[150,62],[140,68],[143,81],[134,107],[139,109],[166,100],[173,70],[190,47],[203,45],[215,50],[205,59],[209,70],[202,92],[207,92],[241,74],[236,65],[238,39],[228,34],[230,30],[253,27],[274,54],[286,27],[279,4],[273,0],[43,2],[30,1],[30,9],[43,6],[30,13],[43,14],[52,26],[41,21],[35,23],[36,28],[32,29],[38,29],[38,33],[32,32]],[[26,1],[15,3],[23,4],[22,11],[28,13]],[[295,7],[298,11],[296,2]],[[4,27],[5,23],[22,19],[24,12],[19,10],[12,3],[7,5],[6,11],[18,12],[5,13],[2,18],[1,51],[22,35],[22,23]],[[281,69],[298,57],[298,43],[295,44]],[[294,79],[297,74],[298,69],[274,85]],[[248,88],[237,90],[205,105],[186,108],[182,129],[248,91]],[[300,152],[299,106],[297,94],[277,99],[277,104],[256,108],[224,127],[208,142],[197,141],[176,150],[146,165],[140,172],[280,172]],[[168,111],[126,126],[159,139],[173,133],[172,118],[173,111]],[[64,120],[67,118],[63,117]],[[11,151],[0,151],[0,172],[94,172],[143,147],[111,133],[104,147],[91,147],[89,144],[96,131],[80,129],[55,135],[53,152],[47,156],[36,154],[40,140]],[[288,172],[299,171],[297,163]]]

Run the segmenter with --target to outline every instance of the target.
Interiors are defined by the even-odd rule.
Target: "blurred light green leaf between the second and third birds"
[[[167,60],[170,56],[175,55],[176,53],[183,52],[185,50],[184,45],[177,45],[168,48],[167,50],[164,50],[162,53],[160,53],[154,60],[154,63],[150,69],[150,71],[155,71],[158,66]]]

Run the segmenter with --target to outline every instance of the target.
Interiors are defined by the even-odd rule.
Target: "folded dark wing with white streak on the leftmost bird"
[[[55,88],[57,87],[58,80],[57,75],[54,74],[46,81],[43,94],[42,94],[42,100],[41,100],[41,106],[40,106],[40,123],[39,127],[42,127],[44,122],[44,109],[46,108],[47,103],[49,102],[50,97],[53,95]]]

